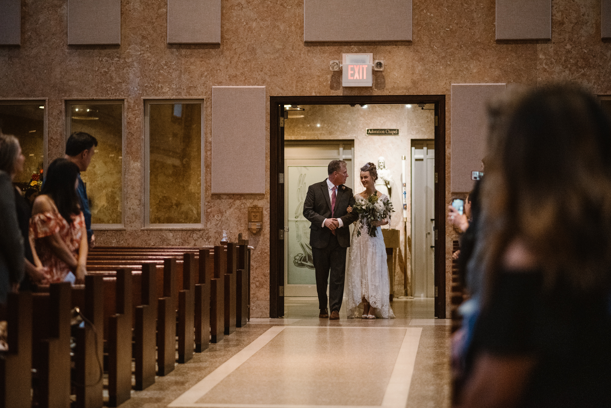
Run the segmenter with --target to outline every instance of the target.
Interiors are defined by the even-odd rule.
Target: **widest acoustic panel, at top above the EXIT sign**
[[[412,0],[304,0],[304,42],[411,40]]]

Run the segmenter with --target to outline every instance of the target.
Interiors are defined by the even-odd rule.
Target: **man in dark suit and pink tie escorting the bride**
[[[329,318],[327,310],[327,280],[329,280],[330,319],[339,319],[342,307],[346,248],[350,246],[348,226],[356,221],[356,212],[346,209],[354,205],[354,194],[344,186],[348,169],[343,160],[332,160],[327,169],[329,178],[312,184],[304,200],[304,217],[310,225],[310,246],[316,271],[316,292],[320,318]],[[329,270],[331,278],[329,279]]]

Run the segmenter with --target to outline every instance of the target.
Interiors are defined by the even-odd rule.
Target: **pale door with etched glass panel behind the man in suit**
[[[327,178],[331,160],[348,164],[346,185],[353,188],[354,169],[352,142],[316,142],[285,140],[284,200],[286,254],[284,268],[284,296],[317,296],[316,276],[310,247],[310,222],[303,216],[305,194],[310,185]]]

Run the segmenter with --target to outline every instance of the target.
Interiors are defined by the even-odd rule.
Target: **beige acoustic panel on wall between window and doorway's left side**
[[[212,194],[265,193],[265,87],[212,87]]]

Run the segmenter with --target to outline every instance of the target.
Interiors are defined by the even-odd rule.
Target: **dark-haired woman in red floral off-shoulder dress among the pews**
[[[30,238],[34,260],[48,268],[46,282],[82,283],[87,264],[87,230],[76,195],[78,166],[55,159],[34,200]]]

